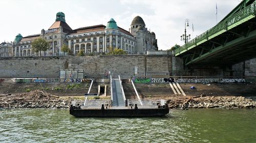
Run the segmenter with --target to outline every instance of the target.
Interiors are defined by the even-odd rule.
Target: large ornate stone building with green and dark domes
[[[41,55],[63,55],[62,45],[68,45],[71,53],[108,53],[118,48],[128,54],[144,54],[146,51],[158,50],[155,33],[147,31],[143,19],[136,16],[131,24],[130,32],[117,26],[111,18],[105,25],[81,27],[75,30],[66,23],[65,14],[58,12],[55,22],[41,34],[22,37],[18,34],[13,42],[13,56],[34,56],[31,42],[37,38],[46,39],[50,48]]]

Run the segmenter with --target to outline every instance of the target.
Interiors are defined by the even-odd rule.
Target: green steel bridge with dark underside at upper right
[[[244,0],[216,26],[175,49],[184,65],[233,65],[256,58],[256,1]]]

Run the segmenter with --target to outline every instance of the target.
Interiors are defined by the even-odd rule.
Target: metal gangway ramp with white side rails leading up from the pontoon
[[[118,79],[112,79],[112,76],[110,76],[112,106],[125,106],[126,99],[123,92],[122,81],[119,75],[118,77]]]

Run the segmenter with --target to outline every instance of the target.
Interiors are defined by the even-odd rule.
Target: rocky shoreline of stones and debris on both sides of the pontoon
[[[255,108],[256,96],[182,96],[158,97],[165,99],[169,108]],[[69,108],[74,98],[60,98],[40,90],[23,94],[0,95],[0,108]]]

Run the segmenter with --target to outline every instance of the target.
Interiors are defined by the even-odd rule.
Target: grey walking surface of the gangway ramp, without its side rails
[[[124,99],[119,79],[112,79],[112,91],[112,106],[124,106]]]

